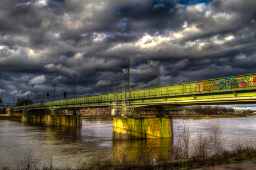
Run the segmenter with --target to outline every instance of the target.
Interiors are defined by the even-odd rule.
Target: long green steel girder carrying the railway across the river
[[[122,92],[117,92],[120,106]],[[256,75],[234,76],[199,82],[126,91],[130,107],[256,104]],[[114,107],[114,93],[26,105],[27,110]],[[14,107],[15,111],[23,106]]]

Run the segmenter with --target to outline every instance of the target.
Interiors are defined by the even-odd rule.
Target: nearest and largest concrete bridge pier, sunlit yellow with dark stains
[[[113,119],[113,140],[166,137],[173,137],[173,119],[171,117]]]

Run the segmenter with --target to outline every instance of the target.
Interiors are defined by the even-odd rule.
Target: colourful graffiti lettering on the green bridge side
[[[210,91],[210,90],[219,90],[219,89],[230,89],[236,87],[248,87],[256,84],[256,75],[254,76],[244,76],[232,79],[223,79],[223,80],[213,80],[213,81],[204,81],[203,83],[198,83],[195,85],[196,91]]]

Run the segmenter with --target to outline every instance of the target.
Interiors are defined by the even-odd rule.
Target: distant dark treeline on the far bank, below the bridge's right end
[[[218,115],[218,114],[228,114],[231,112],[235,112],[232,107],[224,107],[224,106],[188,106],[183,107],[184,110],[188,112],[195,112],[195,114],[209,114],[209,115]],[[251,111],[242,110],[244,114],[250,114]]]

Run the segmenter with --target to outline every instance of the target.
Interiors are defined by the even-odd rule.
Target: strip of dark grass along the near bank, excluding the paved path
[[[96,158],[96,157],[95,157]],[[243,152],[243,153],[229,153],[215,157],[204,157],[204,158],[193,158],[193,159],[178,159],[170,161],[168,159],[160,159],[157,162],[143,163],[143,162],[126,162],[125,164],[115,164],[112,161],[100,160],[99,157],[91,163],[83,163],[78,165],[76,168],[70,167],[46,167],[46,166],[33,166],[29,169],[35,170],[85,170],[85,169],[159,169],[159,170],[170,170],[170,169],[195,169],[205,166],[220,166],[224,164],[233,164],[239,162],[249,162],[256,160],[256,151],[254,152]],[[2,167],[2,170],[12,170],[9,167]],[[27,167],[17,167],[16,170],[28,170]]]

